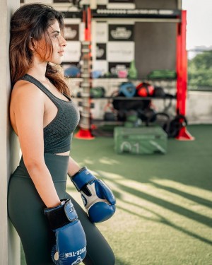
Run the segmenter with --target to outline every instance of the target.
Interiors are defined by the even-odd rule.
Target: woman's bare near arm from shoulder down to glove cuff
[[[59,196],[44,160],[45,97],[33,84],[26,83],[13,89],[11,107],[23,160],[35,188],[47,207],[57,206],[60,204]]]

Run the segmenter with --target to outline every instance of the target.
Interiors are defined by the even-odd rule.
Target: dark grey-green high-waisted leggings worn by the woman
[[[70,198],[86,232],[86,265],[114,265],[114,254],[98,228],[88,220],[85,211],[66,193],[69,157],[45,153],[45,163],[52,175],[60,199]],[[8,216],[16,228],[28,265],[54,264],[51,259],[54,232],[49,229],[44,214],[45,204],[40,199],[28,171],[20,160],[8,185]]]

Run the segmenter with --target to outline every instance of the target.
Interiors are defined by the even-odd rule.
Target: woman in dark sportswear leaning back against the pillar
[[[87,254],[86,247],[80,249],[81,257],[86,254],[84,264],[112,265],[114,254],[105,238],[66,193],[67,173],[78,175],[81,170],[69,157],[79,114],[58,67],[66,47],[63,30],[61,13],[43,4],[24,5],[11,18],[10,117],[23,156],[9,182],[8,216],[20,235],[28,265],[69,264],[60,261],[59,250],[54,248],[55,237],[60,244],[61,227],[69,227],[73,234],[77,231],[71,238],[73,245],[78,240],[81,246],[85,244],[85,231]],[[56,218],[52,213],[57,213]],[[60,222],[59,214],[65,216],[65,226],[54,223]],[[72,264],[81,262],[81,257]]]

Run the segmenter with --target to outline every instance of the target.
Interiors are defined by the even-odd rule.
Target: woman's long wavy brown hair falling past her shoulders
[[[61,33],[64,33],[63,14],[56,11],[52,6],[45,4],[26,4],[16,10],[11,18],[11,40],[10,40],[10,69],[11,85],[14,86],[19,78],[25,75],[33,63],[33,42],[45,40],[45,54],[50,56],[53,52],[51,38],[47,33],[50,25],[57,20]],[[56,88],[70,96],[61,66],[47,63],[45,76],[56,86]]]

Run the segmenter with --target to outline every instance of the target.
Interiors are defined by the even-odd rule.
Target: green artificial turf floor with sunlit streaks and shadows
[[[116,265],[212,264],[212,125],[188,130],[195,140],[169,139],[165,155],[119,155],[110,137],[73,138],[72,157],[117,198],[98,224]],[[67,190],[81,200],[70,181]]]

